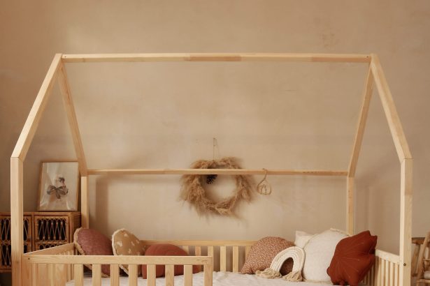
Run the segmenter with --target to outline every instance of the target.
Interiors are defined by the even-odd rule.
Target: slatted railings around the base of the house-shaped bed
[[[166,286],[173,286],[174,265],[184,265],[184,285],[192,285],[193,265],[203,266],[204,285],[212,285],[212,271],[241,270],[255,241],[143,241],[147,246],[170,243],[189,256],[94,256],[76,255],[73,243],[22,255],[23,285],[64,286],[74,280],[83,285],[85,264],[92,265],[92,285],[101,285],[101,264],[110,264],[110,285],[120,285],[119,264],[129,265],[129,284],[137,285],[138,267],[148,265],[148,286],[155,286],[155,265],[166,266]],[[399,286],[399,255],[376,250],[375,265],[363,283],[368,286]]]

